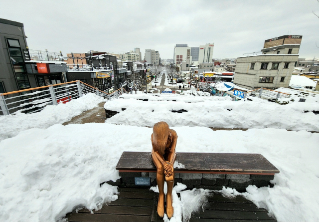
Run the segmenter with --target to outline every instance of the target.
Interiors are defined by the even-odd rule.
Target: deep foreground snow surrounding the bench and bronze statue
[[[278,222],[319,221],[319,134],[271,128],[173,129],[178,134],[177,152],[261,153],[280,170],[276,185],[250,186],[244,195],[267,207]],[[80,206],[94,209],[115,200],[116,187],[100,188],[100,183],[119,178],[115,167],[123,151],[150,151],[151,134],[147,127],[55,124],[2,140],[0,221],[55,222]],[[178,201],[174,203],[182,209],[185,203]],[[175,221],[181,221],[178,212]]]

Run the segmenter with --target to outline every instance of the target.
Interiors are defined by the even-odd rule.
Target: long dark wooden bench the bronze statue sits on
[[[175,168],[175,184],[188,189],[221,190],[222,186],[246,192],[246,187],[273,186],[270,183],[279,170],[261,154],[177,153],[176,160],[184,168]],[[116,169],[121,179],[111,185],[129,188],[156,186],[156,167],[151,152],[123,152]],[[149,186],[136,185],[136,178],[150,178]]]

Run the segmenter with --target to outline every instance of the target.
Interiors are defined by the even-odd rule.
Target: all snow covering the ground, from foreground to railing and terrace
[[[159,98],[177,101],[156,101]],[[107,107],[128,108],[107,121],[115,124],[59,124],[95,107],[101,100],[94,94],[48,106],[40,113],[0,117],[1,133],[5,131],[0,141],[0,222],[55,222],[79,207],[92,210],[116,200],[117,187],[100,187],[100,183],[119,178],[115,167],[122,152],[151,150],[152,128],[142,125],[152,126],[157,121],[166,121],[177,132],[177,152],[260,153],[280,170],[273,188],[249,186],[243,194],[224,189],[225,195],[245,196],[267,208],[278,222],[319,221],[319,134],[306,131],[318,131],[319,121],[318,115],[303,113],[318,108],[318,103],[279,105],[265,100],[232,102],[227,97],[181,95],[153,99],[108,101]],[[171,113],[170,109],[188,112]],[[251,129],[198,127],[205,126],[204,121],[217,123],[215,127]],[[182,191],[184,187],[179,184],[174,189],[171,222],[180,222],[182,214],[190,215],[207,194],[204,190]]]

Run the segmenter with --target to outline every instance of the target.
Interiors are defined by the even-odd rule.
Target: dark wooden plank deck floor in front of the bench
[[[69,222],[163,222],[157,215],[158,193],[148,189],[119,188],[119,199],[94,214],[87,209],[66,215]],[[213,193],[189,222],[276,222],[266,209],[243,197],[229,199]]]

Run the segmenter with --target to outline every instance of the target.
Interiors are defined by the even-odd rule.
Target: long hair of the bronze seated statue
[[[165,153],[165,146],[168,139],[169,126],[165,122],[158,122],[153,127],[153,146],[161,155]]]

